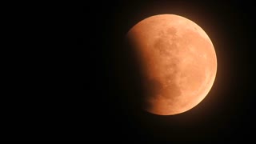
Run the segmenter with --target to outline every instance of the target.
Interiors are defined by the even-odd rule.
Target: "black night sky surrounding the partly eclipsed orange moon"
[[[254,140],[254,9],[250,1],[127,0],[58,3],[43,6],[40,14],[27,10],[33,16],[14,13],[20,19],[14,18],[13,28],[24,31],[16,30],[22,40],[10,42],[18,46],[8,49],[11,57],[6,61],[12,64],[4,75],[8,89],[2,93],[1,138]],[[158,116],[140,107],[139,66],[123,38],[132,26],[155,14],[189,18],[214,44],[214,86],[186,113]]]

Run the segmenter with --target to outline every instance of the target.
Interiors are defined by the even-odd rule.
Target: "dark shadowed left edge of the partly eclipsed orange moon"
[[[113,75],[118,81],[122,109],[130,114],[138,114],[146,112],[146,97],[154,97],[162,86],[154,79],[146,81],[140,56],[131,41],[124,38],[117,46],[114,52]],[[143,82],[146,82],[146,85]]]

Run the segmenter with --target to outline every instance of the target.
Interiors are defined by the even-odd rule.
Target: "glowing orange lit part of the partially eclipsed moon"
[[[217,57],[204,30],[187,18],[160,14],[126,35],[142,66],[143,108],[174,115],[197,106],[214,84]]]

